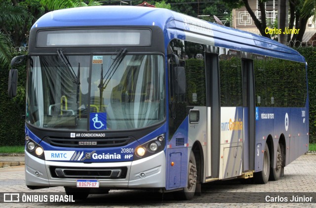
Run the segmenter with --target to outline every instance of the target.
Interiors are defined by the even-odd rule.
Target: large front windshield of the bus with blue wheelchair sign
[[[78,130],[155,125],[165,119],[163,69],[160,55],[122,51],[30,56],[26,122]]]

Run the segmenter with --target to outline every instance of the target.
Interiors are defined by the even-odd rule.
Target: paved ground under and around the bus
[[[284,177],[267,184],[245,181],[217,181],[202,185],[201,196],[177,201],[172,193],[158,194],[139,190],[111,190],[109,194],[89,195],[86,201],[51,203],[50,195],[64,192],[63,187],[30,190],[25,186],[24,166],[0,168],[0,207],[311,207],[316,208],[316,155],[303,155],[284,168]],[[48,195],[48,202],[3,203],[4,194]],[[6,197],[8,197],[6,195]],[[300,200],[300,203],[291,203]],[[22,198],[22,196],[20,196]],[[268,202],[267,202],[268,201]],[[286,202],[287,201],[287,202]],[[275,203],[279,202],[279,203]],[[312,202],[312,203],[311,203]]]

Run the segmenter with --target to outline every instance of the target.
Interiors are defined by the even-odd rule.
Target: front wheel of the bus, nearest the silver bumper
[[[191,200],[194,197],[197,187],[197,163],[193,151],[190,152],[188,165],[188,186],[182,191],[175,192],[174,196],[178,200]]]

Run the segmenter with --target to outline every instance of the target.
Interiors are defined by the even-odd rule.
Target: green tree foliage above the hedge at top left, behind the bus
[[[0,7],[0,67],[8,66],[14,53],[27,46],[32,25],[45,12],[78,6],[101,5],[89,0],[2,0]]]

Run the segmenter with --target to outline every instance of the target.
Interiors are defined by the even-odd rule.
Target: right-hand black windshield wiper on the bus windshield
[[[124,59],[124,57],[126,55],[126,52],[127,52],[126,48],[121,48],[118,51],[118,55],[114,58],[113,63],[109,67],[109,70],[107,71],[107,73],[105,73],[104,77],[103,77],[103,65],[101,66],[102,67],[102,69],[101,69],[101,80],[100,80],[100,84],[98,86],[100,88],[100,91],[107,87],[108,83],[110,82],[110,80],[112,79],[113,75],[117,71],[118,66],[120,65],[120,63]],[[108,80],[108,81],[106,82],[106,80]],[[105,81],[105,82],[103,82],[103,81]]]

